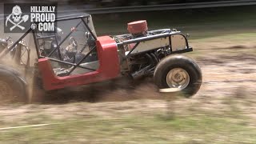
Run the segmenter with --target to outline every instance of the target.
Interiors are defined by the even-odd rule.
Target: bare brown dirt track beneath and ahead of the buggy
[[[190,57],[202,67],[202,87],[192,98],[177,98],[174,101],[175,113],[191,114],[191,109],[200,109],[222,114],[230,110],[230,99],[235,98],[243,114],[256,119],[256,45],[243,43],[230,46],[221,42],[191,42],[191,45],[198,47]],[[52,118],[113,117],[117,114],[150,114],[152,110],[166,110],[166,100],[150,79],[143,80],[135,89],[126,89],[125,86],[113,88],[108,83],[85,86],[72,95],[48,98],[46,104],[0,106],[0,122],[24,120],[36,114]]]

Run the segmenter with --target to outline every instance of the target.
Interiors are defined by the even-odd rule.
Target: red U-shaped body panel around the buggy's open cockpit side
[[[50,61],[47,58],[39,59],[38,68],[42,74],[42,82],[45,90],[101,82],[118,77],[120,72],[118,48],[114,39],[109,36],[98,37],[96,45],[100,66],[98,70],[85,74],[58,77],[54,74]]]

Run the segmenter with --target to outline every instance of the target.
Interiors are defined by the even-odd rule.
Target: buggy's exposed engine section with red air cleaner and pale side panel
[[[186,49],[186,38],[177,30],[148,30],[146,20],[127,24],[130,34],[114,37],[122,74],[133,78],[154,74],[160,59],[176,50]]]

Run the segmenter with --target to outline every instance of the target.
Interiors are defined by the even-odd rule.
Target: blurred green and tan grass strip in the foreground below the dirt
[[[39,117],[41,117],[40,115]],[[197,114],[75,118],[51,126],[0,131],[0,143],[255,143],[242,119]]]

